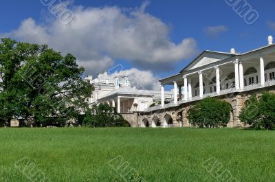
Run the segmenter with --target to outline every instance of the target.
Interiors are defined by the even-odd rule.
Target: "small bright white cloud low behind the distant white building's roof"
[[[159,78],[155,77],[152,71],[142,71],[136,68],[116,71],[111,75],[111,77],[115,76],[128,76],[129,81],[132,86],[137,87],[137,89],[151,89],[151,90],[159,90]]]

